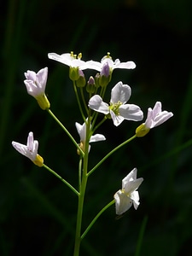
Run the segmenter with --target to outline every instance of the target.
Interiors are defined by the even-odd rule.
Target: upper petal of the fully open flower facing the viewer
[[[118,84],[114,85],[113,89],[111,90],[111,102],[117,103],[121,102],[125,104],[131,96],[131,87],[127,84],[123,84],[119,82]]]

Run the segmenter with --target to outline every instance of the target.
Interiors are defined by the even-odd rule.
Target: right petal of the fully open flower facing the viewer
[[[137,105],[125,104],[119,107],[119,115],[124,119],[132,121],[141,121],[143,119],[143,111]]]

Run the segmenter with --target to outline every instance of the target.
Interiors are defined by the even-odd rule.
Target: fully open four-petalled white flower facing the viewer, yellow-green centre
[[[111,91],[110,105],[102,101],[99,95],[90,98],[89,107],[97,112],[110,113],[113,124],[118,126],[124,119],[140,121],[143,119],[143,111],[134,104],[125,104],[131,96],[131,87],[119,82]]]

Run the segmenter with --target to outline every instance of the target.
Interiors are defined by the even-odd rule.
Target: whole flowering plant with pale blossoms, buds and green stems
[[[102,165],[102,163],[108,159],[119,148],[125,146],[125,144],[131,142],[137,137],[145,136],[150,129],[157,125],[161,125],[167,119],[172,117],[172,112],[161,111],[161,103],[156,102],[154,108],[148,108],[148,116],[146,121],[139,125],[136,129],[135,135],[126,139],[124,143],[119,144],[116,148],[113,148],[108,154],[103,156],[96,166],[90,169],[90,143],[102,142],[106,140],[106,137],[102,134],[96,134],[96,130],[103,122],[108,119],[113,120],[113,125],[119,126],[125,119],[128,121],[141,121],[143,119],[143,111],[135,104],[128,104],[131,97],[131,87],[128,84],[119,83],[115,84],[111,89],[111,99],[109,103],[103,101],[105,92],[108,89],[108,84],[111,82],[113,69],[125,68],[133,69],[136,67],[133,61],[120,62],[119,60],[113,61],[110,54],[104,56],[101,62],[97,61],[82,61],[82,55],[63,54],[57,55],[55,53],[49,53],[49,59],[59,61],[69,67],[69,78],[73,81],[74,93],[77,97],[79,104],[79,111],[83,119],[83,125],[78,122],[75,123],[77,131],[79,133],[80,140],[76,142],[73,135],[67,130],[67,127],[56,118],[55,114],[50,110],[50,103],[45,95],[45,87],[48,77],[48,68],[44,67],[38,73],[33,71],[27,71],[25,73],[27,93],[33,96],[37,101],[40,108],[46,110],[50,116],[55,119],[56,123],[61,126],[63,131],[67,133],[67,136],[71,139],[74,146],[77,148],[79,154],[79,188],[76,189],[71,183],[61,177],[57,172],[49,168],[44,164],[44,159],[38,154],[38,141],[33,139],[32,131],[29,132],[26,145],[21,143],[12,142],[13,147],[20,153],[25,155],[32,162],[39,166],[46,168],[49,172],[58,177],[61,182],[65,183],[74,194],[78,196],[78,212],[76,222],[76,235],[74,242],[74,256],[79,255],[80,244],[87,235],[88,231],[95,224],[96,219],[100,217],[102,212],[106,211],[108,207],[115,205],[116,214],[121,215],[126,212],[133,204],[137,209],[139,206],[139,194],[137,189],[143,183],[143,178],[137,178],[137,168],[134,168],[129,174],[122,180],[122,189],[119,189],[114,195],[112,201],[110,201],[105,207],[102,208],[95,218],[90,222],[87,228],[82,232],[82,219],[84,209],[84,195],[86,185],[90,175],[96,171],[96,169]],[[95,77],[91,76],[86,81],[84,70],[93,69],[99,73],[96,73]],[[84,90],[85,89],[85,90]],[[88,94],[89,100],[86,101],[84,95]],[[99,113],[103,113],[104,117],[98,122]]]

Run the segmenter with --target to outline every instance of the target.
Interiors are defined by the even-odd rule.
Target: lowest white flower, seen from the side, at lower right
[[[114,194],[116,214],[120,215],[133,206],[139,206],[138,187],[143,183],[143,177],[137,178],[137,168],[134,168],[123,180],[122,189]]]

